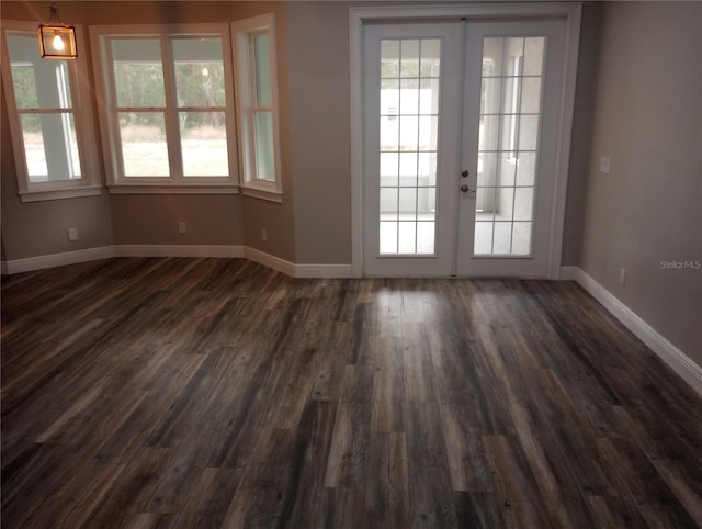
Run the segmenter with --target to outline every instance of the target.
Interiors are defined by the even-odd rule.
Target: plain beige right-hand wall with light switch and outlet
[[[660,261],[702,260],[701,53],[702,3],[603,5],[580,261],[698,365],[702,270]]]

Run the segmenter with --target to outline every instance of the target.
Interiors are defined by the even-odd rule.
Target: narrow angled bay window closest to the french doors
[[[235,22],[233,31],[244,193],[280,201],[273,15]]]

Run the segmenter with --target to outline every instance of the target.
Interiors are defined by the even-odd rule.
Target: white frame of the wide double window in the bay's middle
[[[234,112],[234,68],[231,58],[231,38],[228,23],[194,24],[128,24],[92,25],[89,27],[93,49],[93,68],[102,147],[104,153],[106,182],[110,193],[196,193],[196,194],[237,194],[239,193],[239,161],[237,153],[237,124]],[[225,102],[223,106],[183,106],[178,103],[176,87],[176,60],[172,57],[171,41],[177,38],[220,38],[224,68]],[[120,134],[118,109],[116,102],[114,68],[110,43],[113,40],[154,38],[159,41],[163,68],[166,122],[166,146],[169,159],[169,176],[138,177],[126,176],[123,170],[122,140]],[[178,114],[188,111],[223,112],[227,134],[227,176],[185,176],[183,173],[182,143]]]

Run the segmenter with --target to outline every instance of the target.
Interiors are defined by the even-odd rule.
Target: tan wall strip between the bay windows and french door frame
[[[287,19],[296,260],[350,263],[349,5],[290,2]]]

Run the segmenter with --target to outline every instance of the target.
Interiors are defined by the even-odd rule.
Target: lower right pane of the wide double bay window
[[[185,177],[229,175],[224,112],[181,112],[180,138]]]

